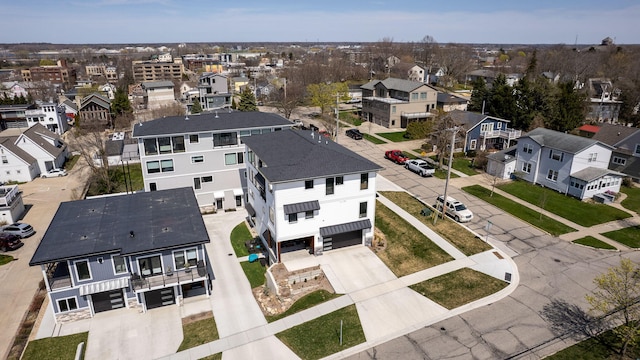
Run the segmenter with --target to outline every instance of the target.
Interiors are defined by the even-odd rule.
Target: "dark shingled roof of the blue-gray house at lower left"
[[[29,265],[207,242],[190,187],[69,201],[58,207]]]

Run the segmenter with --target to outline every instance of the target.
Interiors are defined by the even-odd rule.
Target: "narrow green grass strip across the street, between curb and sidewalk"
[[[491,195],[491,190],[482,187],[480,185],[472,185],[463,187],[462,190],[468,192],[469,194],[480,198],[489,204],[492,204],[500,209],[508,212],[509,214],[520,218],[523,221],[528,222],[529,224],[542,229],[548,232],[551,235],[558,236],[561,234],[566,234],[572,231],[576,231],[576,229],[567,226],[559,221],[556,221],[546,215],[542,215],[539,212],[529,209],[526,206],[522,206],[515,201],[507,199],[506,197],[493,193]]]

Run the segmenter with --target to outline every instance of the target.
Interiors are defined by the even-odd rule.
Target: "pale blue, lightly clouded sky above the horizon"
[[[638,0],[20,0],[0,43],[640,44]]]

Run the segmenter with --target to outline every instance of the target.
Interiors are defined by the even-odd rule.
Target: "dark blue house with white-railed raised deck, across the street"
[[[457,142],[458,151],[502,150],[510,147],[522,135],[520,130],[510,129],[511,121],[485,114],[453,110],[447,114],[455,126],[461,127],[462,142]],[[437,135],[436,135],[437,136]],[[435,143],[435,142],[434,142]]]

